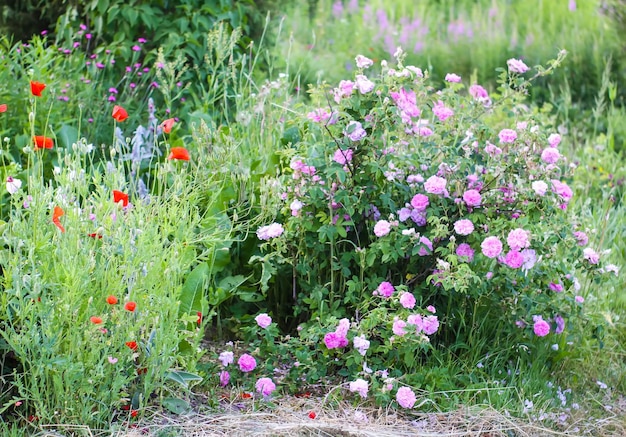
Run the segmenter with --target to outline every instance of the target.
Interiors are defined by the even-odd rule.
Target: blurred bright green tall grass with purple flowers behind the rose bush
[[[290,9],[286,29],[294,35],[294,61],[303,66],[304,82],[336,83],[354,69],[356,54],[380,60],[402,47],[407,62],[428,69],[438,80],[451,72],[468,80],[475,73],[479,83],[492,86],[496,68],[507,59],[544,64],[565,49],[570,56],[557,72],[558,80],[544,83],[567,77],[576,98],[589,102],[605,59],[620,50],[619,32],[600,12],[599,1],[575,3],[570,10],[568,2],[541,0],[319,0],[311,19],[304,3]],[[536,98],[547,97],[541,87],[533,92]]]

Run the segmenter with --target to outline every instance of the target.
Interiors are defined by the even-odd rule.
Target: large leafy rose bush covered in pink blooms
[[[560,135],[524,103],[564,56],[531,78],[512,59],[491,96],[436,89],[401,50],[312,91],[320,106],[296,119],[268,184],[280,232],[261,228],[252,258],[263,289],[293,302],[274,316],[299,322],[298,375],[307,360],[309,377],[378,375],[390,391],[390,378],[419,381],[431,346],[517,360],[584,333],[581,278],[601,280],[599,248],[568,214],[575,166]]]

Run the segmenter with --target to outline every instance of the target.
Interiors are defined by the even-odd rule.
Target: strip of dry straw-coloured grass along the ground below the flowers
[[[626,400],[621,397],[602,418],[579,410],[567,424],[548,428],[544,422],[511,418],[488,406],[459,408],[448,413],[401,415],[394,409],[355,408],[340,404],[329,408],[321,398],[286,397],[271,410],[251,400],[222,405],[220,412],[194,412],[182,416],[145,411],[144,418],[117,430],[96,432],[78,426],[55,426],[37,436],[207,437],[207,436],[324,436],[324,437],[539,437],[626,436]],[[316,417],[311,419],[310,412]],[[547,423],[545,423],[547,425]],[[554,426],[554,425],[553,425]]]

